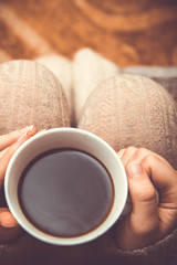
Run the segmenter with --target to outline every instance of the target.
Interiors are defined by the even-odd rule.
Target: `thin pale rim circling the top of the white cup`
[[[39,139],[41,139],[41,137],[45,137],[46,135],[52,135],[52,134],[58,134],[58,132],[74,132],[74,134],[82,134],[85,137],[91,137],[94,140],[98,140],[102,145],[104,145],[106,147],[106,149],[110,151],[110,153],[112,153],[112,156],[116,159],[117,161],[117,167],[121,168],[122,174],[124,176],[124,182],[125,182],[125,197],[124,200],[122,202],[122,211],[124,210],[125,203],[126,203],[126,199],[127,199],[127,194],[128,194],[128,184],[127,184],[127,178],[126,178],[126,173],[125,173],[125,169],[124,166],[121,161],[121,159],[118,158],[117,153],[115,152],[115,150],[105,141],[103,140],[101,137],[94,135],[93,132],[90,132],[87,130],[83,130],[80,128],[70,128],[70,127],[62,127],[62,128],[52,128],[49,129],[46,131],[42,131],[40,134],[34,135],[33,137],[31,137],[29,140],[27,140],[22,146],[20,146],[20,148],[14,152],[14,155],[12,156],[7,171],[6,171],[6,178],[4,178],[4,194],[6,194],[6,199],[7,199],[7,203],[9,205],[9,209],[11,211],[11,213],[13,214],[13,216],[17,219],[17,221],[19,222],[19,224],[31,235],[33,235],[35,239],[41,240],[43,242],[46,243],[51,243],[51,244],[55,244],[55,245],[77,245],[77,244],[82,244],[82,243],[86,243],[90,242],[92,240],[97,239],[98,236],[101,236],[102,234],[104,234],[107,230],[110,230],[114,223],[117,221],[117,219],[119,218],[121,213],[117,213],[117,216],[112,218],[112,220],[110,221],[110,223],[107,224],[106,227],[104,227],[104,223],[105,221],[95,230],[88,232],[87,234],[84,235],[80,235],[80,236],[74,236],[74,237],[59,237],[59,236],[53,236],[50,234],[46,234],[42,231],[40,231],[39,229],[35,229],[34,231],[30,231],[29,226],[27,226],[21,219],[18,216],[15,210],[12,206],[11,203],[11,199],[10,199],[10,194],[9,194],[9,190],[8,190],[8,183],[10,181],[10,173],[11,170],[13,169],[14,165],[15,165],[15,160],[18,159],[19,155],[23,151],[24,148],[28,148],[32,142],[38,141]],[[80,149],[80,148],[79,148]],[[20,205],[19,205],[20,208]],[[113,203],[112,210],[115,208],[115,203]],[[31,224],[31,222],[25,218],[27,222]],[[38,233],[35,233],[38,231]],[[40,233],[39,233],[40,232]]]

